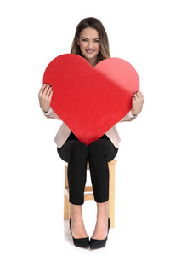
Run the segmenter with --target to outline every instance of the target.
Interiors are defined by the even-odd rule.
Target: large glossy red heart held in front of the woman
[[[43,83],[53,86],[51,108],[87,145],[99,139],[132,108],[139,76],[119,58],[94,68],[79,55],[59,55],[48,64]]]

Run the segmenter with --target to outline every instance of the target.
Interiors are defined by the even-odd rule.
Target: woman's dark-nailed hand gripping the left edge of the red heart
[[[52,96],[52,86],[50,84],[43,84],[38,94],[40,108],[42,108],[43,112],[49,111]]]

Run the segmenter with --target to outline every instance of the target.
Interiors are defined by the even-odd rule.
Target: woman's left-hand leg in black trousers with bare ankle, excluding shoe
[[[88,147],[77,139],[71,139],[58,148],[58,153],[62,160],[68,162],[72,236],[84,238],[88,236],[82,220]]]

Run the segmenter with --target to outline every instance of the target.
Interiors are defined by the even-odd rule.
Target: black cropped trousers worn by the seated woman
[[[72,204],[82,205],[84,202],[87,161],[90,166],[94,200],[100,203],[109,200],[108,162],[115,158],[118,148],[106,135],[87,146],[71,132],[65,144],[57,150],[60,158],[68,162],[69,201]]]

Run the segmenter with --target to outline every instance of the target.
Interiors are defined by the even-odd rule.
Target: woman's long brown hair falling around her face
[[[87,27],[92,27],[96,29],[99,32],[99,61],[103,61],[105,59],[108,59],[111,57],[110,50],[109,50],[109,41],[107,37],[107,33],[105,32],[105,27],[99,21],[98,19],[95,18],[86,18],[83,19],[77,26],[77,30],[75,33],[75,37],[72,42],[71,46],[71,54],[76,54],[76,55],[81,55],[82,52],[80,49],[80,46],[77,44],[77,38],[79,38],[80,33],[82,32],[83,29]]]

